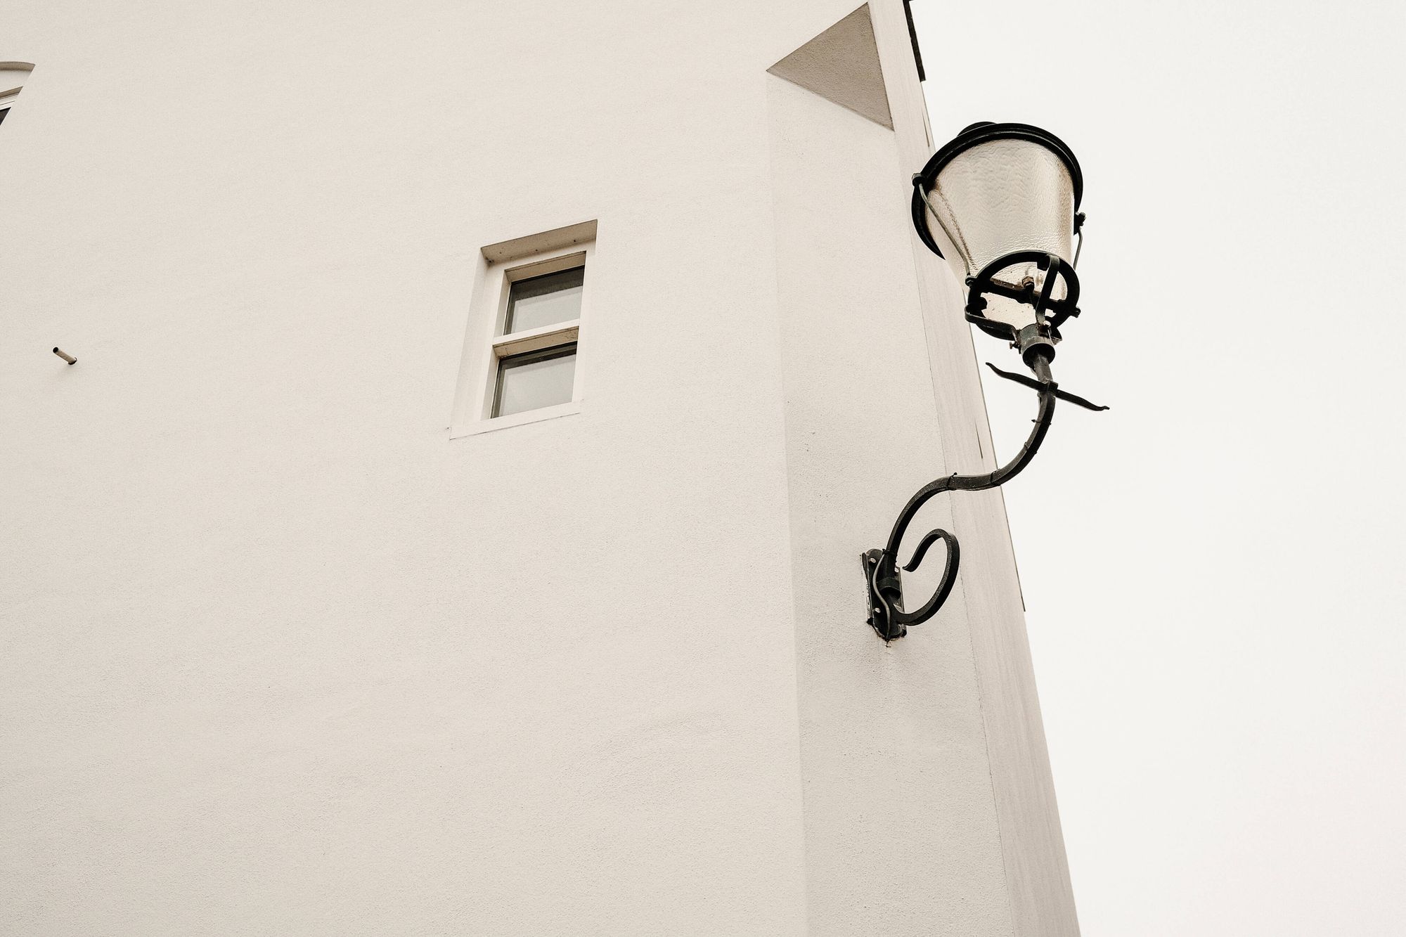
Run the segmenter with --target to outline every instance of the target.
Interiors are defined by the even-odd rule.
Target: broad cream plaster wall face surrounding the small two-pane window
[[[0,15],[0,931],[801,933],[765,31],[332,13]],[[581,412],[450,440],[592,218]]]

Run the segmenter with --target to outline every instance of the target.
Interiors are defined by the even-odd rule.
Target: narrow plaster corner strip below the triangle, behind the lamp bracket
[[[903,196],[893,134],[770,101],[810,933],[1010,934],[960,605],[891,646],[865,625],[859,553],[941,461],[907,234],[873,211]]]

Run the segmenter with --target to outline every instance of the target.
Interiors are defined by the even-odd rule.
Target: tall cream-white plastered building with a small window
[[[0,7],[0,931],[1077,933],[853,1]]]

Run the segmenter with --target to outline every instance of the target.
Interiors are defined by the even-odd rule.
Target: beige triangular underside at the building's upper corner
[[[868,3],[766,70],[893,129]]]

